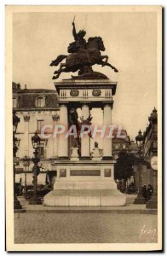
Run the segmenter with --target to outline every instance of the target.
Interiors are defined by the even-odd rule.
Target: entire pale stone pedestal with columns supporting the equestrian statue
[[[68,113],[72,108],[82,109],[83,120],[86,123],[89,120],[90,109],[101,108],[103,125],[109,129],[109,125],[112,125],[112,96],[116,93],[116,87],[117,83],[109,79],[69,79],[55,83],[59,95],[60,125],[68,127]],[[75,122],[77,121],[78,119],[75,119]],[[103,137],[102,160],[97,143],[91,159],[88,133],[78,138],[81,142],[79,159],[78,148],[70,148],[66,137],[59,138],[59,160],[55,161],[57,178],[54,190],[44,196],[43,204],[85,207],[124,206],[126,196],[118,191],[114,182],[112,137]]]

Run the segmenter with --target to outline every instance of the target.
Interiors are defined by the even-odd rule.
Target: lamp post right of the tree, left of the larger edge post
[[[142,190],[141,190],[141,173],[142,173],[142,163],[143,163],[143,156],[142,156],[143,136],[142,136],[141,130],[139,131],[138,136],[135,137],[135,141],[138,146],[137,153],[135,154],[135,165],[137,166],[137,169],[138,169],[139,190],[138,190],[138,195],[135,198],[134,204],[145,204],[146,201],[142,196]]]

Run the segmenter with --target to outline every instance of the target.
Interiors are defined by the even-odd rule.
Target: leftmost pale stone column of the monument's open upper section
[[[60,105],[60,125],[65,127],[65,131],[58,135],[58,156],[59,158],[68,158],[68,110],[66,105]]]

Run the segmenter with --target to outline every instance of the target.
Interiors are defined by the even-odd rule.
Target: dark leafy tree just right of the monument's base
[[[114,178],[127,181],[133,175],[134,155],[126,150],[121,150],[118,154],[118,160],[114,168]]]

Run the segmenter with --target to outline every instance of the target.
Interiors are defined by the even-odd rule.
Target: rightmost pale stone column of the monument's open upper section
[[[103,108],[103,125],[106,125],[106,133],[103,137],[103,160],[112,158],[112,138],[107,137],[112,125],[112,106],[107,104]]]

